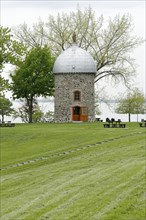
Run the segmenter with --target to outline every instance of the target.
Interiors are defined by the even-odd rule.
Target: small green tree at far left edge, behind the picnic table
[[[4,116],[10,116],[13,113],[12,102],[5,98],[4,95],[0,95],[0,115],[2,122],[4,122]]]

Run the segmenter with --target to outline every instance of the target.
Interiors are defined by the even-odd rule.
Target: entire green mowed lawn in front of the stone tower
[[[144,220],[138,123],[1,128],[1,220]]]

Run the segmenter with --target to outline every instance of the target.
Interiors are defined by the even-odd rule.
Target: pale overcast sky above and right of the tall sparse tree
[[[1,25],[5,27],[15,27],[24,22],[31,26],[41,18],[44,22],[50,14],[56,15],[58,12],[74,11],[80,6],[84,10],[89,5],[99,17],[103,14],[105,19],[114,17],[117,14],[129,13],[133,19],[133,35],[145,37],[146,26],[146,0],[113,0],[113,1],[41,1],[41,0],[1,0]],[[145,45],[139,46],[133,53],[136,59],[138,86],[145,92]]]

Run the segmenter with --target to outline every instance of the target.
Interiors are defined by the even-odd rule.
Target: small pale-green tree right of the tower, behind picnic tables
[[[124,96],[122,96],[124,97]],[[146,112],[146,100],[144,94],[135,88],[129,91],[124,98],[120,98],[116,113],[128,114],[129,122],[131,121],[131,114],[144,114]]]

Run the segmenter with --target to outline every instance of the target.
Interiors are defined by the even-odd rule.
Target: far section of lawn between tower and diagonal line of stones
[[[3,128],[1,129],[1,167],[27,161],[27,158],[32,160],[46,153],[54,154],[94,144],[105,138],[127,135],[131,132],[130,126],[131,124],[126,130],[103,129],[102,123],[19,125],[14,129]],[[136,127],[132,127],[133,133],[139,131]]]

